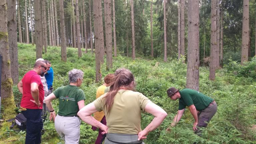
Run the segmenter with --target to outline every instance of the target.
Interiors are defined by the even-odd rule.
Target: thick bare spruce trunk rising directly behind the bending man
[[[188,0],[187,88],[199,90],[199,0]]]

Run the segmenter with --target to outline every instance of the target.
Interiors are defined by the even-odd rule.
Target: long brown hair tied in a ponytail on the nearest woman
[[[130,89],[130,84],[134,81],[134,76],[131,71],[124,69],[118,76],[115,77],[114,83],[110,86],[110,91],[104,97],[106,98],[105,105],[107,110],[110,111],[115,95],[120,90],[120,87]]]

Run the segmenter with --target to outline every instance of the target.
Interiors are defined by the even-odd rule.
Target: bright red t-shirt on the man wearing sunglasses
[[[21,98],[20,106],[27,109],[42,109],[43,100],[44,100],[44,87],[41,82],[40,76],[35,71],[31,70],[24,75],[21,81],[22,81],[23,95]],[[39,101],[41,103],[40,108],[38,108],[38,106],[35,103],[30,101],[30,100],[34,100],[31,95],[31,87],[30,87],[31,83],[38,84]]]

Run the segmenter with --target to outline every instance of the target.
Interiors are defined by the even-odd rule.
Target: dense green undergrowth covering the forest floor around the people
[[[19,76],[20,79],[29,71],[35,62],[35,46],[18,44],[19,47]],[[102,84],[95,83],[95,56],[83,51],[81,58],[77,57],[77,49],[67,49],[67,62],[61,62],[61,50],[59,47],[48,47],[43,58],[50,60],[54,70],[53,87],[68,84],[68,71],[76,68],[84,72],[84,81],[81,89],[86,95],[85,104],[92,102],[96,96],[97,87]],[[200,92],[212,97],[218,104],[218,111],[204,129],[203,136],[198,137],[193,133],[193,117],[186,110],[181,121],[176,127],[170,127],[170,123],[178,110],[178,101],[167,98],[166,90],[169,87],[186,87],[186,64],[176,59],[168,59],[164,63],[162,59],[150,57],[136,60],[118,55],[113,58],[113,68],[106,70],[106,65],[101,68],[102,76],[114,73],[117,68],[128,68],[135,76],[137,91],[143,93],[151,101],[161,106],[168,116],[162,125],[149,133],[146,144],[252,144],[256,143],[256,131],[252,127],[256,124],[256,58],[241,66],[239,63],[229,60],[223,69],[216,72],[216,80],[209,80],[209,68],[200,67]],[[19,103],[21,94],[17,86],[13,87],[15,102]],[[54,100],[55,110],[58,110],[58,101]],[[141,126],[145,128],[153,116],[142,114]],[[8,128],[8,122],[1,124],[0,143],[24,143],[25,132],[15,132]],[[169,131],[166,131],[170,128]],[[45,133],[42,136],[43,144],[63,143],[55,131],[54,123],[48,119],[44,123]],[[91,130],[91,126],[81,123],[81,144],[92,144],[97,137],[97,132]]]

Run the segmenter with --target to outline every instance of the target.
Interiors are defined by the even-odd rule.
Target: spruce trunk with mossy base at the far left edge
[[[11,3],[9,6],[11,6]],[[8,7],[9,7],[8,6]],[[12,7],[15,9],[15,1],[12,1]],[[10,13],[15,13],[16,11],[8,10]],[[15,103],[14,103],[14,97],[12,93],[12,77],[11,77],[11,70],[10,70],[10,57],[9,57],[9,48],[8,48],[8,30],[7,30],[7,5],[6,5],[6,0],[1,0],[0,1],[0,55],[2,65],[2,76],[1,76],[1,107],[3,107],[3,111],[1,113],[3,114],[2,119],[10,119],[15,117],[15,111],[14,109],[16,108]],[[14,19],[15,18],[15,19]],[[16,17],[14,17],[13,21],[16,21]],[[15,22],[16,23],[16,22]],[[15,38],[17,36],[15,35]],[[11,113],[10,113],[11,112]]]

